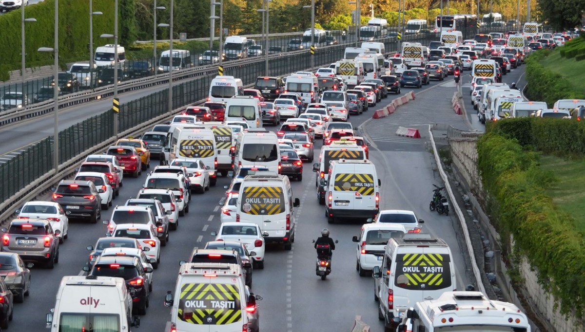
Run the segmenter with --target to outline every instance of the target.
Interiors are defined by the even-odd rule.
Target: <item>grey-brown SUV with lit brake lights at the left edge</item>
[[[59,262],[59,234],[46,219],[14,219],[2,232],[2,251],[16,253],[25,262],[42,262],[54,268]]]

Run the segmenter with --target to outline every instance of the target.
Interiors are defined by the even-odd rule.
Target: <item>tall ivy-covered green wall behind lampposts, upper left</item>
[[[128,7],[134,7],[134,0],[119,2],[119,43],[128,45],[135,41],[133,38],[135,19],[122,16],[122,12],[131,12]],[[40,53],[39,47],[54,46],[54,0],[46,0],[25,9],[26,18],[35,18],[37,22],[25,23],[26,67],[53,64],[53,55]],[[95,15],[94,47],[113,44],[113,40],[101,39],[102,33],[113,33],[113,1],[94,0],[92,9],[103,15]],[[66,63],[88,60],[90,40],[89,2],[80,0],[59,1],[59,63],[64,67]],[[0,79],[7,79],[8,71],[20,69],[20,10],[5,13],[0,16],[0,31],[2,45],[0,47]],[[9,32],[9,33],[7,33]],[[8,47],[9,46],[9,47]]]

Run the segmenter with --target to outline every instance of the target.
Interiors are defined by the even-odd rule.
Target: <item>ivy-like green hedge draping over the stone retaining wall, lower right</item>
[[[477,153],[484,188],[497,203],[491,214],[500,234],[513,237],[514,251],[538,270],[539,283],[560,301],[560,312],[583,317],[585,237],[546,195],[552,173],[539,167],[537,153],[496,131],[481,137]]]

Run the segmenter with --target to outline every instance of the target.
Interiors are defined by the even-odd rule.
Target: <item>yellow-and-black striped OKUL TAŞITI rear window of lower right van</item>
[[[451,288],[448,254],[398,254],[394,285],[412,291]]]

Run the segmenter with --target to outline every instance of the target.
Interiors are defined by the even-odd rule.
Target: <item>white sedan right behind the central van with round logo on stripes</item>
[[[232,223],[226,222],[219,226],[217,233],[211,232],[215,236],[215,241],[236,241],[243,243],[249,253],[256,253],[252,256],[253,267],[264,268],[264,249],[266,241],[262,237],[262,232],[258,224],[255,223]]]

